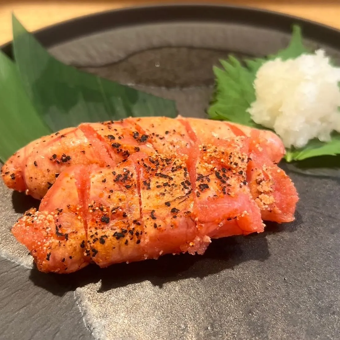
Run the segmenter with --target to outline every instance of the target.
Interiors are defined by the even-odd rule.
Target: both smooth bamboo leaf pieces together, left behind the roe
[[[64,65],[13,15],[15,62],[0,52],[0,162],[82,122],[177,115],[175,102]]]

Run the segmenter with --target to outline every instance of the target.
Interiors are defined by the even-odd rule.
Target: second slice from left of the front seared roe
[[[144,259],[137,174],[131,160],[93,168],[87,197],[87,248],[100,267]]]

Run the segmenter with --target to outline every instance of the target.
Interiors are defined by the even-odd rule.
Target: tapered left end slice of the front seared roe
[[[64,171],[41,202],[12,228],[16,239],[31,252],[43,272],[69,273],[90,262],[77,177],[82,166]]]

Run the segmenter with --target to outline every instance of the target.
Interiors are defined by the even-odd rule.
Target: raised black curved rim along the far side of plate
[[[237,22],[285,33],[291,33],[292,24],[297,23],[302,26],[304,38],[318,40],[329,47],[340,50],[340,29],[290,14],[251,6],[228,4],[162,3],[129,6],[71,18],[31,33],[43,46],[50,48],[57,44],[109,29],[147,23],[173,22],[174,20]],[[0,46],[0,49],[13,59],[12,43],[13,40],[10,40]]]

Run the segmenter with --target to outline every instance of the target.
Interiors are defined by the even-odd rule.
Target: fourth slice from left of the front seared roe
[[[188,161],[198,227],[211,238],[263,232],[259,207],[246,182],[248,138],[215,140]]]

